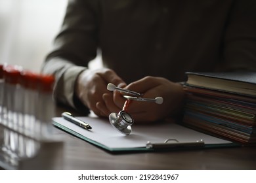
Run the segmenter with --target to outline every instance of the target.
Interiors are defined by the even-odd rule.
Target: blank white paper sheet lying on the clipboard
[[[177,139],[179,142],[196,142],[203,139],[205,144],[230,143],[230,141],[205,135],[172,122],[155,124],[136,124],[135,122],[131,126],[133,130],[131,134],[123,135],[114,129],[108,120],[91,117],[77,118],[91,125],[92,129],[83,129],[64,118],[53,118],[53,121],[108,148],[140,148],[145,147],[148,141],[162,143],[166,139]]]

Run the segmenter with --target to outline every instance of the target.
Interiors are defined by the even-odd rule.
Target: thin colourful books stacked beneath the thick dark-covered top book
[[[256,144],[256,98],[184,86],[182,124],[241,144]]]

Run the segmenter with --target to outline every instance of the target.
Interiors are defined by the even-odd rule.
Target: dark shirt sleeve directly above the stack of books
[[[229,70],[256,71],[256,1],[234,1],[224,35]]]

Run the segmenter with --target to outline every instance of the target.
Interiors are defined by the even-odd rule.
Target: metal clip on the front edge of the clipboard
[[[166,139],[163,143],[152,143],[148,141],[146,143],[146,148],[150,149],[164,149],[164,148],[189,148],[189,147],[203,147],[204,141],[195,142],[179,142],[177,139]]]

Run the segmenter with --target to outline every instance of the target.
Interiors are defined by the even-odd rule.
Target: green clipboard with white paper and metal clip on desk
[[[123,135],[112,127],[108,119],[76,117],[92,129],[83,129],[62,117],[53,118],[53,125],[108,152],[155,152],[195,148],[223,148],[240,146],[206,135],[175,122],[133,124],[130,135]]]

